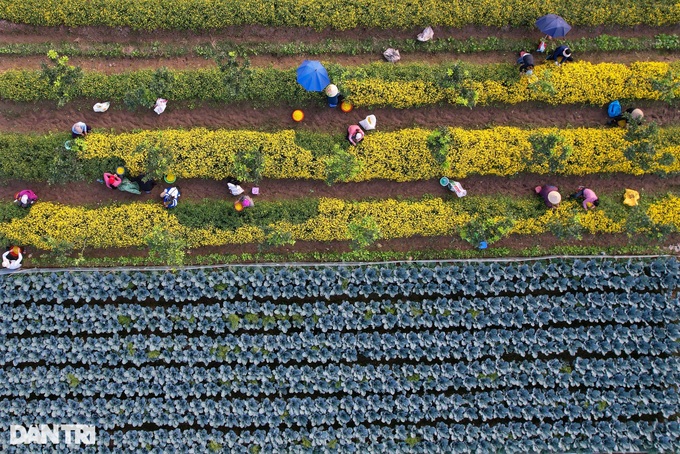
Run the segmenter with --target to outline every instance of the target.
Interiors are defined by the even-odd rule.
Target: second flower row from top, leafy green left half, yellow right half
[[[533,77],[519,77],[510,64],[427,65],[412,63],[345,68],[328,65],[331,80],[357,106],[417,107],[438,103],[470,104],[470,91],[477,104],[540,101],[550,104],[585,103],[601,105],[613,99],[670,99],[680,96],[677,63],[637,62],[591,64],[576,62],[561,67],[539,65]],[[295,70],[254,68],[225,82],[217,68],[169,71],[164,89],[154,93],[175,101],[250,101],[262,105],[303,105],[321,101],[318,93],[302,89]],[[169,77],[169,79],[167,78]],[[86,72],[72,86],[69,97],[122,101],[136,88],[148,87],[154,71],[123,74]],[[660,84],[660,85],[655,85]],[[158,86],[158,85],[155,85]],[[59,90],[64,90],[59,87]],[[12,101],[57,99],[38,71],[10,70],[0,74],[0,98]]]

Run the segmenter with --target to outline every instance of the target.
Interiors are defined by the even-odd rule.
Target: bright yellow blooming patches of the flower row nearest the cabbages
[[[187,203],[187,202],[184,202]],[[494,203],[479,197],[479,203]],[[525,208],[540,205],[538,199],[518,199]],[[671,224],[680,229],[680,198],[668,196],[649,206],[648,215],[656,224]],[[363,217],[372,218],[385,239],[414,236],[455,235],[477,210],[466,208],[455,199],[439,198],[420,201],[383,199],[346,201],[321,198],[318,215],[305,222],[278,222],[269,226],[244,225],[234,231],[214,227],[190,228],[181,225],[160,203],[130,203],[99,208],[65,206],[38,202],[23,218],[0,223],[0,234],[13,241],[40,249],[50,249],[54,241],[86,244],[93,248],[144,246],[153,226],[161,225],[173,236],[186,238],[187,245],[219,246],[225,244],[261,243],[264,227],[288,232],[294,240],[349,240],[348,225]],[[603,208],[584,212],[574,201],[563,202],[555,210],[539,210],[536,217],[515,219],[511,234],[535,235],[550,231],[550,225],[578,223],[589,233],[620,233],[623,223],[614,221]]]

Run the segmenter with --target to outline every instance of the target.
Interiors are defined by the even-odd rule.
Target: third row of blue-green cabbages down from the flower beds
[[[490,329],[445,332],[424,330],[396,333],[293,333],[241,336],[151,335],[107,336],[86,339],[67,336],[0,337],[0,365],[56,364],[119,366],[165,363],[217,365],[352,363],[386,361],[474,361],[512,355],[587,353],[669,355],[678,351],[676,324],[647,331],[637,325],[594,325],[524,330]],[[642,335],[642,336],[641,336]]]

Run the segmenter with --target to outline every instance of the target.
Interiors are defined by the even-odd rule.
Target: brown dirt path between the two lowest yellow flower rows
[[[472,176],[460,179],[460,183],[470,195],[510,195],[529,196],[537,185],[550,183],[563,192],[563,196],[575,192],[579,185],[593,188],[599,194],[623,194],[625,188],[633,188],[642,193],[680,191],[680,176],[659,178],[653,175],[633,176],[626,174],[588,175],[583,177],[546,177],[540,175],[519,175],[517,177]],[[182,189],[182,200],[198,201],[208,199],[232,200],[224,181],[189,179],[180,180],[177,185]],[[160,200],[164,186],[156,186],[151,194],[135,195],[108,189],[101,183],[70,183],[50,186],[46,183],[33,183],[10,180],[0,187],[0,200],[13,200],[14,194],[22,189],[32,189],[41,201],[58,202],[68,205],[94,205],[109,202],[133,202]],[[243,184],[250,192],[251,184]],[[259,184],[258,200],[286,200],[299,197],[334,197],[346,200],[366,198],[418,198],[425,194],[455,198],[452,192],[442,188],[437,179],[396,183],[394,181],[374,180],[362,183],[340,183],[328,186],[322,181],[312,180],[263,180]]]

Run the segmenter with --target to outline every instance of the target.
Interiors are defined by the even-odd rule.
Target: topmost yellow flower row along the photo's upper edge
[[[612,8],[608,0],[430,0],[403,3],[399,0],[361,0],[345,4],[320,4],[300,0],[139,0],[106,2],[87,0],[1,0],[0,19],[48,26],[104,25],[135,29],[216,29],[230,25],[410,28],[423,24],[533,25],[546,13],[564,16],[574,25],[666,25],[680,22],[674,0],[636,2]]]

